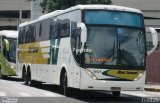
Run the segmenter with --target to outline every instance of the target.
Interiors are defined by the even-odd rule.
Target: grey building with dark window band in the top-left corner
[[[30,19],[31,2],[0,0],[0,30],[17,30],[20,23]]]

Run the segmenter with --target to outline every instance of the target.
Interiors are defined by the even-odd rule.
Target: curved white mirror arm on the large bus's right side
[[[153,48],[147,52],[147,55],[149,56],[156,50],[158,46],[158,33],[154,28],[149,27],[148,29],[152,34],[152,44],[153,44]]]

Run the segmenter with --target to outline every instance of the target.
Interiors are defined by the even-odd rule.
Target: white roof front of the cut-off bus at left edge
[[[0,36],[6,36],[8,38],[18,38],[18,31],[14,30],[2,30]]]

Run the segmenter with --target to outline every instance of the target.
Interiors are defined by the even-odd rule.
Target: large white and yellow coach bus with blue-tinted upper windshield
[[[70,88],[143,90],[145,27],[140,10],[114,5],[78,5],[19,26],[17,74]]]

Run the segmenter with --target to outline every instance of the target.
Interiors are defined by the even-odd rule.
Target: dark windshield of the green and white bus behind
[[[17,40],[13,38],[8,38],[10,43],[10,50],[9,50],[9,61],[16,62],[16,44]]]

